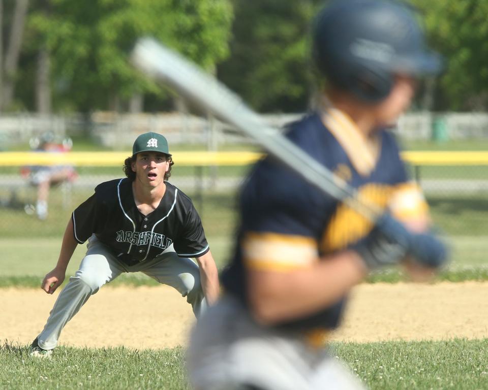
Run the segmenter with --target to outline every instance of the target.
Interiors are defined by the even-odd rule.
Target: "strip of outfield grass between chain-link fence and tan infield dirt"
[[[219,269],[222,269],[229,258],[232,241],[229,236],[209,236],[212,254]],[[437,280],[466,281],[488,280],[486,259],[486,237],[450,238],[452,261],[448,267],[436,276]],[[59,254],[58,238],[1,238],[0,249],[0,287],[38,288],[43,276],[56,264]],[[85,245],[78,245],[67,270],[68,277],[74,275],[86,250]],[[372,274],[370,282],[398,282],[406,280],[400,268],[384,269]],[[155,286],[157,282],[142,273],[123,274],[110,283],[110,286],[121,284]]]

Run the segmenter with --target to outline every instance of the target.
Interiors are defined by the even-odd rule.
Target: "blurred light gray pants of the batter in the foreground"
[[[364,390],[325,348],[261,327],[229,296],[199,318],[187,367],[195,390]]]

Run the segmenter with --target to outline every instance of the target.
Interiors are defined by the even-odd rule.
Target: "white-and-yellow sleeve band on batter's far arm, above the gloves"
[[[429,214],[429,206],[423,193],[414,182],[393,187],[388,208],[396,218],[401,220],[425,218]]]

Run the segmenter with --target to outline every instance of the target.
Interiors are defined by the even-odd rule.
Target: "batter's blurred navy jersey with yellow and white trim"
[[[356,188],[361,197],[389,208],[395,216],[409,219],[427,213],[389,132],[378,131],[373,140],[367,140],[349,117],[330,109],[292,123],[286,136]],[[324,195],[272,156],[259,161],[244,183],[239,209],[238,243],[222,283],[244,303],[246,269],[293,272],[310,267],[324,255],[363,239],[372,229],[367,219]],[[335,328],[344,301],[287,325]]]

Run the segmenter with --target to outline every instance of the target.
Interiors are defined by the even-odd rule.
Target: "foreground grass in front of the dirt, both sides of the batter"
[[[341,359],[372,390],[488,388],[488,341],[335,343]],[[50,360],[26,346],[0,346],[0,388],[189,389],[181,347],[163,350],[59,347]]]

